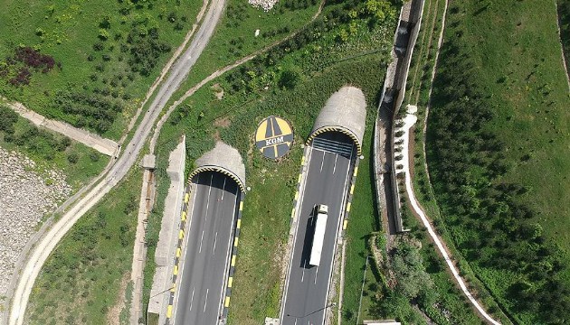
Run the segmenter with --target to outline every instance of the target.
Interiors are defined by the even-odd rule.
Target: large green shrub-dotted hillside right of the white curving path
[[[428,163],[445,226],[461,254],[470,261],[474,274],[511,320],[520,323],[559,321],[565,318],[562,306],[570,303],[564,298],[567,296],[565,287],[570,282],[570,268],[565,262],[570,238],[561,231],[568,227],[570,211],[564,204],[553,202],[570,197],[570,189],[564,181],[570,172],[570,163],[560,154],[570,137],[567,133],[570,116],[566,109],[570,106],[570,97],[556,32],[556,6],[554,2],[544,1],[451,3],[447,25],[428,125]],[[506,39],[503,35],[510,36]],[[458,78],[465,81],[455,84]],[[455,94],[466,95],[453,103]],[[456,107],[464,107],[467,101],[471,107],[489,110],[490,116],[485,117],[488,121],[480,126],[463,124],[462,129],[452,123],[450,126],[446,119],[460,116],[461,111]],[[467,109],[463,111],[463,115],[470,114]],[[476,121],[479,117],[472,118]],[[448,131],[444,131],[442,125],[448,125],[445,126]],[[451,150],[461,154],[464,148],[471,148],[471,153],[480,155],[469,156],[463,160],[465,164],[457,160],[455,167],[438,161],[434,153],[443,152],[436,147],[442,148],[442,136],[449,136],[449,130],[464,143],[463,149]],[[487,152],[476,149],[479,144],[472,142],[473,136],[488,139]],[[451,138],[445,146],[460,148],[450,144],[452,141]],[[490,162],[491,157],[497,160]],[[459,170],[453,170],[458,167]],[[443,175],[447,175],[447,179],[442,178]],[[480,181],[469,184],[473,176]],[[460,189],[455,180],[463,177],[468,180],[463,182],[467,187]],[[449,184],[457,189],[452,195],[456,199],[450,195]],[[502,184],[510,185],[506,188]],[[422,186],[420,184],[420,188]],[[470,196],[465,196],[465,190],[470,189],[475,192],[474,197],[468,199]],[[516,195],[498,199],[493,189],[519,190]],[[480,202],[481,208],[461,207],[457,199],[473,204]],[[455,203],[451,203],[452,200]],[[499,206],[508,208],[497,209]],[[493,210],[498,212],[490,213]],[[509,217],[520,211],[527,211],[526,219]],[[490,218],[477,217],[484,215]],[[498,215],[504,217],[495,223],[493,220]],[[473,238],[474,228],[483,234],[485,228],[493,228],[493,223],[495,229],[487,232],[484,242]],[[537,230],[534,235],[525,235],[522,231],[532,227]],[[513,237],[517,232],[520,235]],[[534,240],[535,244],[522,244],[527,240],[531,240],[528,243]],[[480,248],[474,249],[477,246]],[[535,255],[536,247],[544,247],[542,253]],[[489,255],[499,258],[489,259]],[[505,262],[500,255],[519,262],[497,266]],[[553,263],[556,267],[536,271],[531,265],[525,266],[524,260],[533,258],[537,258],[535,265]],[[545,279],[540,274],[548,275]],[[532,284],[525,289],[523,283],[528,282]],[[540,297],[538,303],[530,303],[533,297]]]

